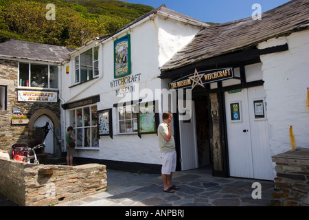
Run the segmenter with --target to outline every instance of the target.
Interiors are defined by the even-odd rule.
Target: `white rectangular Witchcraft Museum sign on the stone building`
[[[57,102],[56,91],[18,91],[19,102]]]

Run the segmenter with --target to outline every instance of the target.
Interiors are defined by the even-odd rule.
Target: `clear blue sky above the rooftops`
[[[290,0],[125,0],[157,8],[165,4],[167,8],[204,22],[226,23],[251,17],[260,4],[262,13]],[[253,9],[252,9],[253,7]],[[256,14],[256,13],[255,13]]]

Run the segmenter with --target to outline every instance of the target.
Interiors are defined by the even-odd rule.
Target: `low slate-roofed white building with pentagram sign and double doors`
[[[289,1],[261,20],[211,25],[161,67],[160,77],[172,79],[174,89],[194,73],[199,79],[187,87],[196,109],[202,107],[196,136],[211,146],[214,174],[273,179],[271,156],[309,147],[308,5]],[[224,68],[233,78],[218,74]],[[203,129],[209,136],[199,133]],[[189,157],[189,168],[198,167],[197,153],[181,157]]]

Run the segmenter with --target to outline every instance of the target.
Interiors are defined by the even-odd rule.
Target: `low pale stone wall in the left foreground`
[[[52,174],[42,170],[54,168]],[[0,150],[0,192],[19,206],[49,206],[107,188],[106,166],[36,165],[8,159]]]

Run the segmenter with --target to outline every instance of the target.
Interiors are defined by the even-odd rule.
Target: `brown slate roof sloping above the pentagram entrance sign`
[[[264,12],[261,20],[251,17],[211,25],[177,52],[160,69],[168,72],[198,61],[252,47],[273,37],[309,27],[309,0],[293,0]],[[168,73],[166,73],[168,74]]]

